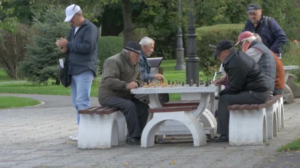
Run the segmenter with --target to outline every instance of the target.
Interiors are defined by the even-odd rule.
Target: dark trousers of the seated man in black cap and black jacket
[[[262,104],[268,101],[269,91],[252,92],[242,91],[237,94],[224,94],[220,96],[218,103],[217,133],[229,135],[229,114],[227,106],[234,104]]]

